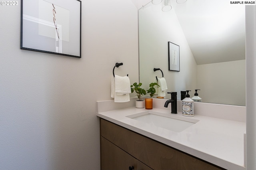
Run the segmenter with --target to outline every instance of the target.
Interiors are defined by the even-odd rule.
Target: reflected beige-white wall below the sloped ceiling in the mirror
[[[245,60],[197,65],[197,88],[202,102],[245,106]]]

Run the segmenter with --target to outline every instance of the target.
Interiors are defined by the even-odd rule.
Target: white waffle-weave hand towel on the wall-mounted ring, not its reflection
[[[111,79],[111,97],[114,98],[114,102],[128,102],[130,101],[131,87],[130,79],[128,76],[112,77]]]

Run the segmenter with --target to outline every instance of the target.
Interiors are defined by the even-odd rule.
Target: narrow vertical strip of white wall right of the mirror
[[[256,169],[256,6],[246,6],[246,169]]]

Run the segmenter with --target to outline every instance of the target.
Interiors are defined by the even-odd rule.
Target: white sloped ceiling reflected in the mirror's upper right
[[[172,1],[196,63],[245,59],[245,7],[228,0]]]

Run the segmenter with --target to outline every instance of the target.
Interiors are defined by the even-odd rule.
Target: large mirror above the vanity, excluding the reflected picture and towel
[[[202,102],[245,106],[245,7],[226,0],[187,0],[162,12],[139,10],[140,82],[148,89],[163,72],[167,92],[195,89]],[[168,69],[168,42],[180,47],[180,71]],[[166,99],[170,94],[166,93]]]

